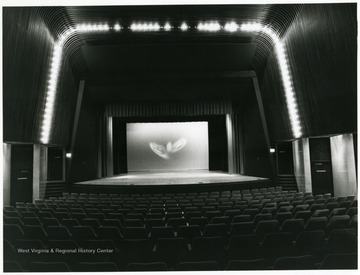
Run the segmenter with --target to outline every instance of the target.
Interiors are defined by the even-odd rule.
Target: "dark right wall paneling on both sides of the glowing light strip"
[[[356,131],[356,4],[302,5],[283,41],[304,136]],[[274,54],[268,57],[261,91],[272,140],[291,139]]]

